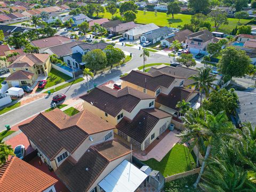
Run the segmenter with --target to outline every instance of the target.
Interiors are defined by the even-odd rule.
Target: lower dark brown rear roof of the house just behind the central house
[[[198,93],[198,91],[186,89],[185,87],[174,87],[168,95],[160,93],[156,98],[156,102],[171,109],[178,110],[176,108],[177,103],[182,100],[187,101],[191,94],[194,93]]]

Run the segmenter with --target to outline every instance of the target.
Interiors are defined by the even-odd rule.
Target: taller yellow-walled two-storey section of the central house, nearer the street
[[[80,98],[85,109],[112,125],[117,125],[123,117],[133,119],[141,109],[154,108],[155,100],[155,96],[131,87],[116,91],[107,86],[95,87]]]

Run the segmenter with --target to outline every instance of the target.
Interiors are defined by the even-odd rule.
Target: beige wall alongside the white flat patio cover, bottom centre
[[[95,188],[96,186],[98,186],[98,183],[104,179],[111,171],[113,171],[115,169],[115,167],[117,167],[120,163],[122,163],[124,161],[124,159],[126,159],[127,161],[131,162],[131,154],[125,155],[121,158],[116,159],[115,161],[110,162],[106,169],[102,171],[102,173],[100,174],[100,176],[98,177],[97,180],[95,180],[95,182],[93,183],[93,185],[91,186],[91,188],[88,190],[89,192]],[[98,186],[98,191],[99,190],[99,186]]]

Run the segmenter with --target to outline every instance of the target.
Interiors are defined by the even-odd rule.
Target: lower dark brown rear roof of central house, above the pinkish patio
[[[116,125],[116,128],[139,143],[142,143],[156,126],[159,119],[171,116],[159,109],[142,109],[132,121],[124,117]]]

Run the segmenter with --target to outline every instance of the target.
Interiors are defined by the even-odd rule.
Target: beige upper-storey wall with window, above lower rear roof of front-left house
[[[96,133],[96,134],[92,134],[89,135],[84,141],[83,143],[75,150],[75,152],[73,154],[71,154],[71,156],[78,161],[86,152],[86,150],[91,146],[91,145],[95,145],[97,143],[101,143],[105,141],[105,135],[108,134],[109,132],[111,132],[112,130],[109,131],[103,131],[100,133]],[[90,141],[90,136],[93,138],[93,141]],[[111,140],[114,138],[114,133],[113,133],[113,137],[109,138],[108,140]]]

